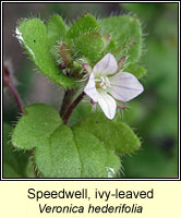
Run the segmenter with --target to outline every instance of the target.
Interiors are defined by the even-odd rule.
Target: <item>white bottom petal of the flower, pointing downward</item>
[[[108,119],[112,120],[114,118],[117,104],[110,95],[108,95],[107,93],[99,93],[98,105],[100,106],[101,110]]]

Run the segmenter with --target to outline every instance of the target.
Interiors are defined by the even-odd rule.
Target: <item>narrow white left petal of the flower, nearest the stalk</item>
[[[94,80],[94,74],[92,73],[88,80],[87,85],[84,88],[84,93],[89,96],[95,102],[97,102],[98,99],[98,92],[96,89],[96,83]]]

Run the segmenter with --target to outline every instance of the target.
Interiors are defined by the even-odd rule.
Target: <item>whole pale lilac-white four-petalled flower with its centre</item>
[[[144,90],[138,80],[129,72],[118,72],[118,63],[111,53],[107,53],[90,72],[84,93],[98,102],[105,116],[112,120],[117,102],[129,101]]]

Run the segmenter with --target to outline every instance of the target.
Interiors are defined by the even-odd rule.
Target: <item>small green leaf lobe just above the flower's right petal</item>
[[[130,64],[128,68],[123,70],[124,72],[130,72],[135,75],[137,78],[142,78],[146,75],[146,69],[138,64]]]

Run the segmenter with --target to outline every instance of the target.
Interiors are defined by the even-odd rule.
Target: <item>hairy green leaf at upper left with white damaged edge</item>
[[[59,36],[61,38],[64,34],[60,20],[58,16],[52,17],[48,23],[48,28],[39,19],[25,20],[16,28],[16,38],[45,76],[59,85],[72,87],[75,85],[74,82],[60,72],[51,55],[52,45],[56,44]],[[63,29],[62,33],[60,34],[59,31],[52,34],[52,31],[58,29],[59,26]]]

